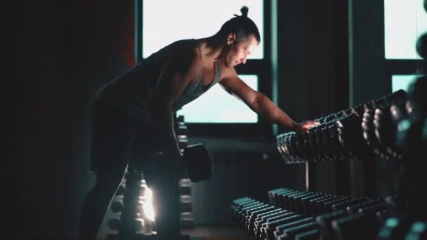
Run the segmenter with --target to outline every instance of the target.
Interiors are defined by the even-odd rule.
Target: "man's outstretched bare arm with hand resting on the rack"
[[[225,77],[220,81],[221,86],[226,91],[235,95],[237,98],[242,100],[248,105],[254,112],[259,114],[261,117],[267,119],[272,124],[280,124],[286,126],[292,131],[308,131],[308,128],[317,125],[315,121],[305,121],[302,124],[296,123],[291,119],[285,112],[282,111],[277,105],[275,105],[270,99],[268,99],[263,93],[254,91],[251,87],[239,79],[237,74],[235,76]]]

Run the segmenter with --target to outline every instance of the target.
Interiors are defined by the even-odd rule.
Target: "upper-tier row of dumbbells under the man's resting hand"
[[[308,133],[277,135],[277,149],[286,163],[340,161],[372,154],[398,158],[394,135],[403,119],[407,92],[400,90],[382,98],[324,116]]]

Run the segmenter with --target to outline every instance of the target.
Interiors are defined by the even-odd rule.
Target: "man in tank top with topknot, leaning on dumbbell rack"
[[[247,17],[248,10],[242,7],[242,15],[225,22],[213,36],[176,41],[162,48],[100,90],[93,107],[91,146],[91,169],[97,179],[82,209],[80,239],[95,239],[140,135],[148,139],[147,152],[163,152],[169,159],[163,173],[144,169],[144,176],[155,197],[159,239],[176,238],[179,218],[173,202],[178,197],[175,169],[181,154],[173,113],[216,83],[271,123],[298,132],[318,124],[296,123],[237,76],[234,67],[246,63],[261,41],[258,28]]]

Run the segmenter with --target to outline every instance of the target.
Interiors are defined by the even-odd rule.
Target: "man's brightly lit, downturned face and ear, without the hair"
[[[235,41],[235,34],[230,34],[227,39],[227,51],[225,54],[225,66],[235,67],[240,63],[245,64],[255,48],[258,46],[258,41],[254,34],[248,36],[247,41]]]

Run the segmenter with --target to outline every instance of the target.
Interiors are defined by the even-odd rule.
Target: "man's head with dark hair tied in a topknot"
[[[261,41],[258,27],[248,18],[249,8],[243,6],[242,15],[235,15],[223,24],[216,34],[225,39],[223,60],[227,67],[235,67],[246,63],[247,56],[251,54]]]

